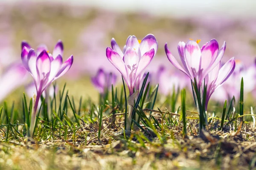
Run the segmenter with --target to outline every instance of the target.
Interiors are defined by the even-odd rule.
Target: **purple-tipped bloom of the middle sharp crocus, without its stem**
[[[154,35],[148,34],[140,42],[134,35],[130,35],[126,40],[124,52],[119,48],[114,38],[111,40],[111,47],[106,49],[106,56],[122,74],[131,96],[134,93],[135,85],[138,87],[140,84],[144,69],[157,52],[157,40]]]

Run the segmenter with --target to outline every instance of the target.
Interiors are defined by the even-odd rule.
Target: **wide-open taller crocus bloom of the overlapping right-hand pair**
[[[169,51],[167,43],[165,45],[165,52],[169,61],[192,79],[192,81],[195,79],[198,89],[201,88],[202,82],[207,74],[221,61],[225,49],[226,42],[224,42],[219,50],[218,42],[215,39],[204,44],[201,49],[198,45],[198,41],[189,40],[186,43],[179,42],[178,52],[183,65],[182,67]]]

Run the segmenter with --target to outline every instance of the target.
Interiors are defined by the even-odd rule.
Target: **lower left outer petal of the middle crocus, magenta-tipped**
[[[128,78],[128,75],[125,70],[125,63],[123,62],[119,54],[116,51],[113,51],[110,47],[108,47],[106,49],[106,56],[126,80]]]

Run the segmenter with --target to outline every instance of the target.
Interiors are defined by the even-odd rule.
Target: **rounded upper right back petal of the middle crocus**
[[[140,55],[154,48],[154,55],[157,53],[158,43],[153,34],[146,35],[140,42]]]

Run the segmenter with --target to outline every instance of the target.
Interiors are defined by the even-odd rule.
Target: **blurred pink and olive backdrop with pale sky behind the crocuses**
[[[151,33],[159,48],[147,68],[154,73],[160,65],[171,71],[164,44],[175,57],[177,44],[190,38],[205,42],[215,38],[219,46],[227,42],[223,62],[231,57],[245,67],[256,57],[255,0],[0,0],[0,67],[21,62],[20,43],[26,40],[36,48],[47,45],[51,52],[58,40],[64,43],[64,59],[74,56],[73,66],[58,79],[60,87],[67,82],[69,94],[79,100],[97,91],[90,82],[99,68],[121,75],[105,56],[114,37],[120,47],[129,35],[143,39]],[[8,99],[16,99],[32,82],[29,75]],[[18,93],[17,93],[18,91]]]

